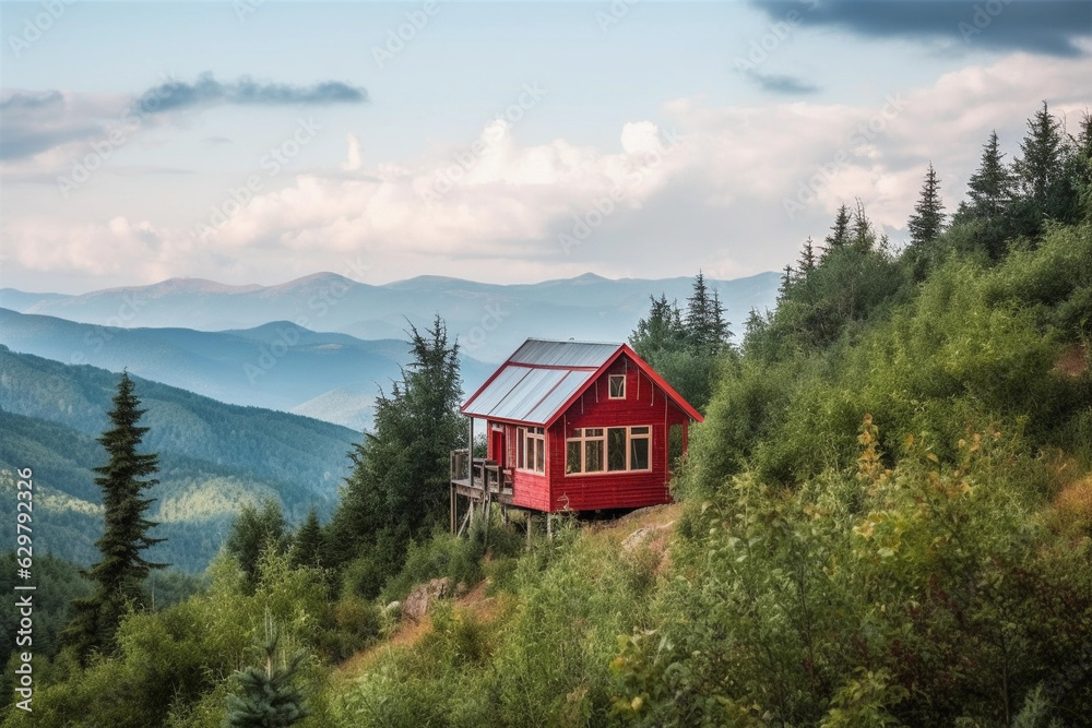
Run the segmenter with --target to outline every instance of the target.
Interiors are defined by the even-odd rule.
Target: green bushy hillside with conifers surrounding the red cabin
[[[679,502],[614,526],[427,530],[461,435],[437,321],[325,526],[256,516],[264,549],[43,659],[4,725],[250,725],[246,697],[346,728],[1088,725],[1092,118],[1044,105],[1013,156],[989,135],[952,215],[923,160],[900,249],[843,205],[738,346],[654,298],[634,341],[664,324],[712,394]]]

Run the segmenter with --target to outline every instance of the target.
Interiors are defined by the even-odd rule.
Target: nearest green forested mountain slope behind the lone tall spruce
[[[280,500],[300,522],[313,505],[329,516],[347,475],[346,454],[360,434],[286,413],[225,405],[134,378],[150,428],[144,449],[159,453],[153,536],[167,541],[149,558],[200,571],[219,549],[241,503]],[[0,491],[15,500],[16,468],[34,470],[34,550],[90,564],[102,534],[100,493],[93,467],[105,462],[96,442],[118,374],[72,367],[0,346]],[[0,538],[14,544],[14,517]]]

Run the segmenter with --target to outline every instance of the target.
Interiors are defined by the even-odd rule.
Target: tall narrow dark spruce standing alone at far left
[[[155,499],[142,497],[158,482],[150,476],[158,472],[159,457],[136,450],[147,428],[136,425],[145,410],[140,408],[133,389],[129,373],[122,373],[114,408],[107,415],[112,427],[98,438],[109,455],[106,465],[95,468],[95,482],[103,491],[104,517],[103,536],[95,546],[103,558],[82,572],[94,583],[94,592],[72,601],[73,618],[61,635],[81,659],[110,645],[126,610],[144,604],[144,578],[151,570],[167,565],[141,556],[144,549],[163,541],[149,536],[157,524],[144,517]]]

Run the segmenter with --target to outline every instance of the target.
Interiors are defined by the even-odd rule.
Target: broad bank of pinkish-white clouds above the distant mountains
[[[337,270],[361,255],[381,261],[375,270],[384,279],[430,272],[527,281],[586,270],[660,276],[699,266],[746,275],[794,260],[804,239],[821,239],[836,206],[854,196],[874,222],[900,230],[929,160],[954,208],[989,130],[998,129],[1011,158],[1042,98],[1075,130],[1092,99],[1087,63],[1012,55],[857,106],[717,107],[707,97],[680,98],[662,108],[674,129],[632,121],[614,148],[563,139],[521,144],[512,126],[497,120],[448,156],[365,167],[351,134],[342,171],[298,175],[203,239],[126,218],[19,219],[4,224],[3,239],[27,270],[105,275],[128,259],[139,261],[132,275],[145,279],[269,282],[288,277],[285,271]],[[809,186],[802,210],[786,215],[783,201]],[[610,212],[601,207],[589,237],[566,254],[558,235],[604,201]]]

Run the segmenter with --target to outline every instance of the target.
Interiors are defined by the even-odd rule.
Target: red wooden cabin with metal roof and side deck
[[[546,513],[670,502],[668,464],[702,420],[626,344],[534,338],[461,411],[472,432],[486,420],[488,452],[453,454],[452,527],[458,494]]]

